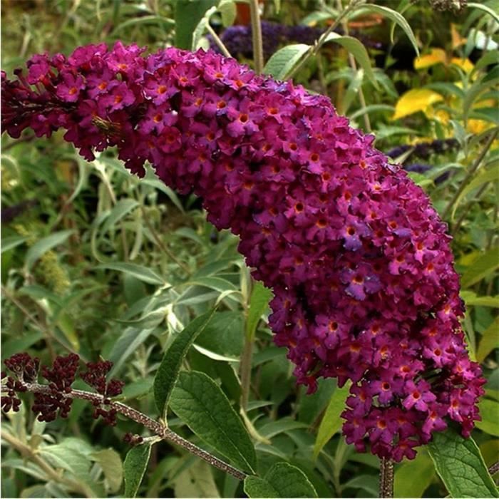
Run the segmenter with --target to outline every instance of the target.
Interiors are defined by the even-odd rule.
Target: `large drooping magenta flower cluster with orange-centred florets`
[[[451,420],[468,436],[484,379],[465,348],[450,237],[423,190],[324,96],[211,51],[143,51],[34,56],[2,75],[4,130],[64,128],[87,160],[117,146],[133,173],[148,161],[200,196],[272,288],[269,324],[298,383],[352,382],[343,431],[359,451],[413,458]]]

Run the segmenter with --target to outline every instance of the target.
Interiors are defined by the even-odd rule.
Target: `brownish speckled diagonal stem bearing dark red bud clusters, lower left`
[[[41,385],[38,383],[24,383],[22,381],[21,383],[26,386],[26,389],[28,391],[31,391],[32,393],[46,393],[47,395],[51,394],[51,389],[47,385]],[[83,390],[71,390],[70,393],[64,393],[63,396],[66,398],[79,398],[81,400],[86,400],[97,404],[103,403],[103,400],[105,398],[99,393],[92,393],[90,391]],[[144,413],[141,413],[140,411],[137,411],[130,406],[126,406],[124,403],[111,401],[109,404],[106,404],[106,407],[115,409],[120,414],[123,414],[123,416],[126,416],[127,418],[135,421],[135,423],[139,423],[140,425],[145,426],[145,428],[148,428],[151,432],[155,433],[155,435],[159,436],[163,440],[168,440],[182,448],[185,448],[186,451],[190,452],[194,456],[207,461],[207,463],[215,466],[215,468],[225,471],[225,473],[229,473],[238,480],[244,480],[247,477],[247,474],[243,471],[234,468],[232,465],[225,463],[225,461],[222,461],[215,456],[212,456],[212,454],[210,454],[209,452],[204,451],[194,443],[185,440],[185,438],[182,438],[174,431],[171,431],[170,428],[167,428],[165,425],[163,425],[163,423],[155,421],[153,418],[146,416]]]

